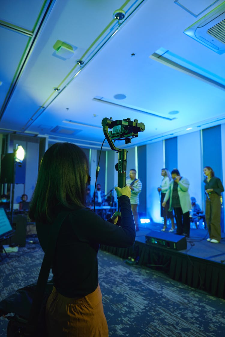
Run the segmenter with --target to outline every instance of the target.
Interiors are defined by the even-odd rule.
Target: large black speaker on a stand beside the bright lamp
[[[15,161],[14,153],[6,153],[1,161],[1,184],[13,183],[13,165],[15,164],[15,184],[25,184],[26,163]]]

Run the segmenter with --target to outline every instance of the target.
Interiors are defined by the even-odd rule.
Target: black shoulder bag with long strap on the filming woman
[[[29,284],[0,302],[0,317],[9,320],[7,337],[47,337],[45,308],[53,289],[48,280],[59,229],[69,212],[60,213],[51,226],[48,249],[45,252],[37,283]],[[13,316],[7,316],[14,313]]]

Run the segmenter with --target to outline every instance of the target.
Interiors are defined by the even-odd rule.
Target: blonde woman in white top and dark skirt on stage
[[[170,185],[170,181],[171,181],[171,175],[169,170],[167,170],[167,168],[162,168],[161,171],[161,176],[163,177],[163,180],[161,182],[160,187],[157,188],[158,192],[161,192],[161,217],[163,217],[164,219],[164,224],[163,224],[163,228],[161,229],[161,231],[165,231],[167,228],[167,219],[171,220],[171,228],[169,230],[169,232],[174,232],[175,230],[175,225],[174,225],[174,217],[173,217],[173,211],[169,211],[169,199],[166,202],[166,206],[163,207],[162,203],[164,201],[166,192],[169,189],[169,185]]]

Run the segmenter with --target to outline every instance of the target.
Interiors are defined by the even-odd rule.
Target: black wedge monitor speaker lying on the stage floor
[[[162,246],[174,250],[187,249],[187,240],[183,235],[151,231],[145,235],[145,242],[150,245]]]

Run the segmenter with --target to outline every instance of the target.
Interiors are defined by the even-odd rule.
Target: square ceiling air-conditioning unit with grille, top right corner
[[[225,53],[225,1],[185,29],[184,33],[218,54]]]

